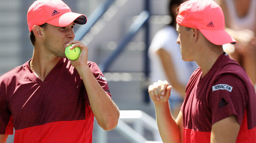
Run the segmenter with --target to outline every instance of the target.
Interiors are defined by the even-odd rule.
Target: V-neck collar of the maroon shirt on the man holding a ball
[[[56,70],[58,70],[58,68],[62,65],[62,63],[63,63],[63,58],[60,58],[59,62],[58,62],[58,63],[53,67],[53,69],[48,73],[48,75],[45,77],[44,81],[42,81],[40,78],[38,78],[37,75],[31,70],[31,68],[30,68],[30,66],[29,66],[29,63],[30,63],[30,62],[31,62],[31,59],[30,59],[30,60],[26,63],[26,65],[25,65],[26,69],[28,70],[28,72],[27,72],[28,77],[29,77],[32,81],[34,81],[34,82],[40,84],[40,83],[45,83],[45,82],[47,82],[47,81],[48,81],[48,78],[51,78],[51,75],[52,75],[53,73],[55,73]]]

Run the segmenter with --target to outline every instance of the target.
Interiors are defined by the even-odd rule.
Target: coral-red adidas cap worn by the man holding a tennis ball
[[[83,14],[73,13],[62,0],[37,0],[28,8],[27,21],[31,32],[34,25],[48,23],[66,27],[72,22],[85,24],[87,18]]]

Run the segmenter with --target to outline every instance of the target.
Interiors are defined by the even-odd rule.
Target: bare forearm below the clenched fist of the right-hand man
[[[155,104],[155,111],[163,143],[181,143],[179,126],[172,117],[169,102]]]

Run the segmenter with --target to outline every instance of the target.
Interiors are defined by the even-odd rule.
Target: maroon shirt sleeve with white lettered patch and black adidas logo
[[[212,123],[225,119],[232,114],[242,123],[248,99],[251,96],[250,87],[241,78],[233,74],[222,75],[211,86],[207,95],[208,103],[213,114]]]

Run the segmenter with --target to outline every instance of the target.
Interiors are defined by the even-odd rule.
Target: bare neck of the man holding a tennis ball
[[[40,51],[35,48],[29,65],[37,77],[44,81],[48,73],[50,73],[60,59],[60,57],[45,54],[44,51]]]

